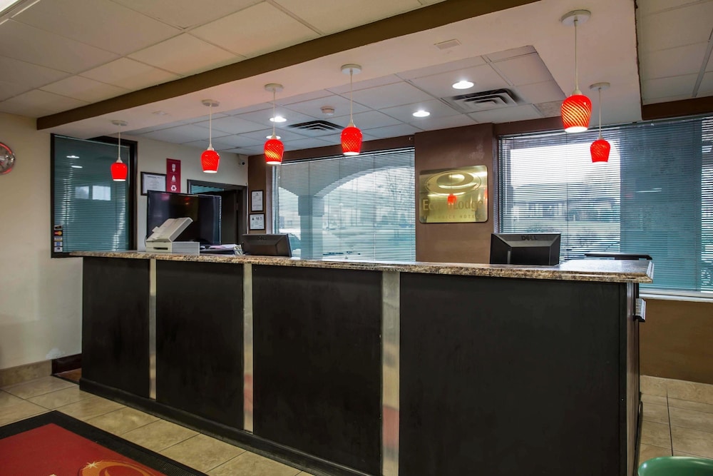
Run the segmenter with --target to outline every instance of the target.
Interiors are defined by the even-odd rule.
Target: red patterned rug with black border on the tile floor
[[[60,412],[0,427],[0,461],[1,475],[204,474]]]

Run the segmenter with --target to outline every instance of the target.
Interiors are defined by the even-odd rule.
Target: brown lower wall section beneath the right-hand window
[[[713,303],[646,299],[641,374],[713,384]]]

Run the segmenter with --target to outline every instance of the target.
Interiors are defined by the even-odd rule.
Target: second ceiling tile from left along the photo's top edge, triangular
[[[262,0],[114,0],[152,18],[188,29],[222,18]]]

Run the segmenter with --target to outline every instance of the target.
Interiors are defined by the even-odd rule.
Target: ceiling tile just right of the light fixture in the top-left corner
[[[13,19],[122,55],[181,32],[109,0],[41,1]]]

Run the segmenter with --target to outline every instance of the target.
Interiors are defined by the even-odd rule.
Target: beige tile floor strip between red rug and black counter
[[[312,476],[54,377],[0,389],[0,426],[58,410],[211,476]]]

